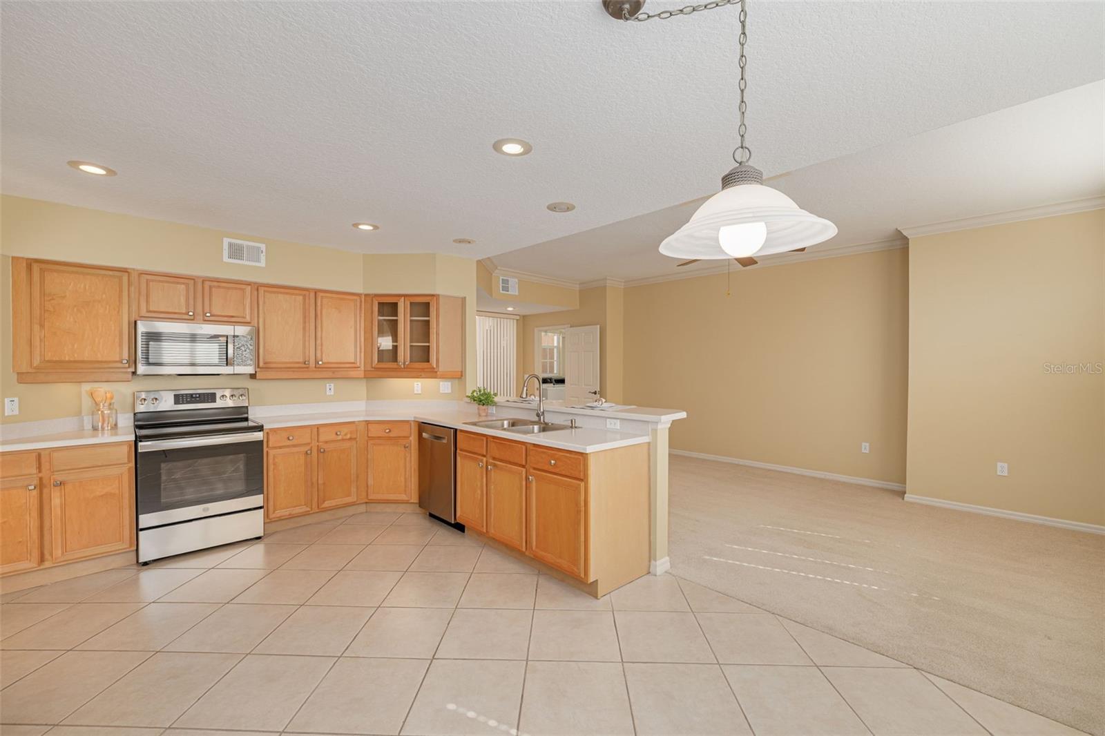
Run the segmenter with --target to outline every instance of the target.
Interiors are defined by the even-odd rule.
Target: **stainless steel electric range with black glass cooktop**
[[[138,561],[264,533],[264,433],[249,390],[135,391]]]

